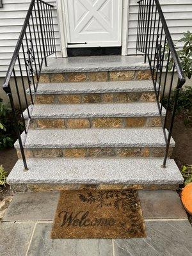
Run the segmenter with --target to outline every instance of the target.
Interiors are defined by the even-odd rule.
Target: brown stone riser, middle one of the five
[[[27,121],[28,122],[28,121]],[[159,116],[106,118],[31,118],[29,129],[161,127]]]

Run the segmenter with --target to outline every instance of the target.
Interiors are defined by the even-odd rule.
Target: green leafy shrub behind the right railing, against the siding
[[[180,38],[178,42],[184,42],[184,46],[182,49],[177,51],[177,54],[179,56],[180,64],[182,67],[182,70],[184,71],[184,74],[186,77],[191,79],[192,76],[192,33],[188,31],[187,33],[183,33],[184,37]],[[178,42],[175,44],[176,50],[179,49],[177,47]],[[164,58],[168,59],[168,51],[169,47],[168,44],[166,45],[166,54],[164,55]],[[168,70],[172,70],[173,68],[173,58],[170,56],[170,61],[168,62]]]

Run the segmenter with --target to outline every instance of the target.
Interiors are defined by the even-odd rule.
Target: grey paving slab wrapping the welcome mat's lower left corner
[[[112,239],[51,239],[52,223],[38,223],[28,256],[113,256]]]

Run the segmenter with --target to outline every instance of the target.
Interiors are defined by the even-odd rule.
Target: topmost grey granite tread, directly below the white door
[[[100,72],[120,70],[146,70],[149,65],[143,62],[143,56],[90,56],[48,58],[43,73],[60,72]]]

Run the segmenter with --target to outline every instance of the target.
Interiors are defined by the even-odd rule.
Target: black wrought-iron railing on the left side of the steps
[[[44,9],[42,8],[42,3],[44,5]],[[36,12],[36,6],[37,6],[37,12]],[[50,8],[49,8],[49,6],[50,6]],[[15,125],[14,129],[15,129],[15,132],[17,133],[17,138],[18,138],[18,141],[19,141],[20,154],[22,156],[22,161],[24,163],[24,170],[28,170],[28,166],[27,166],[27,163],[26,163],[26,156],[25,156],[25,152],[24,152],[24,145],[23,145],[24,141],[22,141],[22,136],[20,134],[21,131],[19,129],[19,120],[20,120],[20,118],[21,118],[21,120],[24,124],[24,132],[25,132],[24,135],[25,136],[27,134],[27,129],[26,129],[26,126],[25,126],[24,115],[23,115],[23,112],[22,112],[19,86],[18,86],[18,83],[17,83],[17,75],[15,74],[15,63],[18,61],[18,63],[16,63],[16,65],[19,65],[19,72],[20,72],[21,81],[22,81],[21,89],[23,90],[22,93],[24,93],[24,99],[25,99],[25,102],[26,102],[26,109],[28,111],[28,117],[30,119],[31,118],[31,113],[30,113],[29,107],[28,107],[28,99],[27,99],[27,96],[26,96],[26,87],[25,87],[24,80],[23,80],[22,65],[20,63],[19,54],[20,54],[20,52],[23,54],[24,67],[26,69],[26,70],[24,70],[24,72],[26,72],[26,76],[28,78],[29,95],[31,97],[31,104],[33,104],[33,99],[36,95],[36,88],[38,86],[38,78],[39,78],[40,72],[42,70],[42,64],[45,60],[45,66],[47,66],[47,56],[48,56],[48,54],[50,55],[54,52],[53,48],[56,49],[52,12],[51,12],[51,15],[50,15],[50,13],[47,11],[47,10],[51,10],[51,8],[53,8],[53,7],[54,7],[53,5],[51,5],[49,3],[45,3],[43,0],[31,0],[26,18],[24,20],[24,24],[22,26],[22,30],[21,30],[20,35],[19,35],[19,39],[17,41],[17,45],[16,45],[15,50],[13,52],[12,60],[10,62],[8,70],[6,72],[6,77],[5,77],[4,83],[3,83],[3,90],[6,93],[6,95],[8,95],[8,97],[10,99],[10,105],[11,105],[12,113],[13,113],[13,122],[14,122],[14,125]],[[43,15],[43,12],[40,12],[40,11],[43,11],[43,10],[44,10],[44,15]],[[35,22],[33,20],[33,12],[35,12],[36,29],[35,29]],[[38,15],[37,15],[37,13],[38,13]],[[41,13],[42,13],[42,15],[41,15]],[[32,19],[33,31],[31,31],[31,28],[30,28],[30,26],[31,26],[30,22],[29,22],[30,19]],[[39,19],[39,22],[38,22],[38,19]],[[45,26],[44,26],[44,19],[45,19],[45,25],[47,26],[47,28],[46,28],[47,31],[45,30]],[[38,29],[38,26],[40,26],[40,29]],[[29,30],[29,31],[27,31],[27,30]],[[37,31],[37,35],[38,35],[39,47],[37,45],[37,38],[36,38],[36,34],[35,34],[36,31]],[[28,39],[28,35],[27,35],[28,33],[29,33],[29,39]],[[39,74],[38,74],[38,70],[37,70],[37,67],[36,67],[36,60],[35,60],[36,56],[35,56],[35,49],[33,47],[33,38],[32,38],[33,34],[32,33],[34,33],[34,37],[35,37],[36,54],[37,54],[38,65],[39,65],[39,69],[40,69]],[[45,33],[46,33],[46,35],[45,35]],[[46,38],[47,38],[47,40],[46,40]],[[23,40],[26,40],[27,52],[25,52]],[[54,44],[53,44],[53,42],[51,43],[51,40],[52,41],[54,40]],[[29,45],[28,41],[30,42],[31,45]],[[52,50],[50,48],[50,44],[52,44]],[[49,52],[46,51],[47,46],[49,47]],[[39,48],[40,48],[41,56],[39,56],[39,54],[38,54],[38,49]],[[27,56],[26,56],[26,54],[27,54]],[[41,58],[41,61],[40,61],[40,58]],[[33,77],[33,63],[32,63],[33,61],[35,63],[35,71],[36,71],[36,76],[37,76],[36,83],[35,83],[35,79]],[[15,81],[15,88],[16,88],[17,97],[18,97],[18,100],[19,100],[20,118],[19,118],[19,116],[17,116],[17,112],[15,110],[15,104],[14,104],[13,96],[12,96],[12,89],[10,87],[10,79],[11,79],[12,75],[13,75],[13,81]],[[33,79],[34,95],[31,92],[31,81],[29,79],[30,76],[32,76],[32,79]]]

